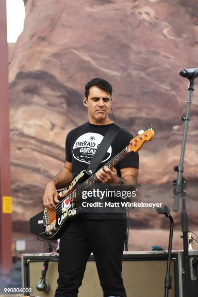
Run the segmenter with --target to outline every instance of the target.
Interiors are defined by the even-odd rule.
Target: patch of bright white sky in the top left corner
[[[23,31],[25,8],[23,0],[6,0],[7,3],[7,41],[16,42]]]

